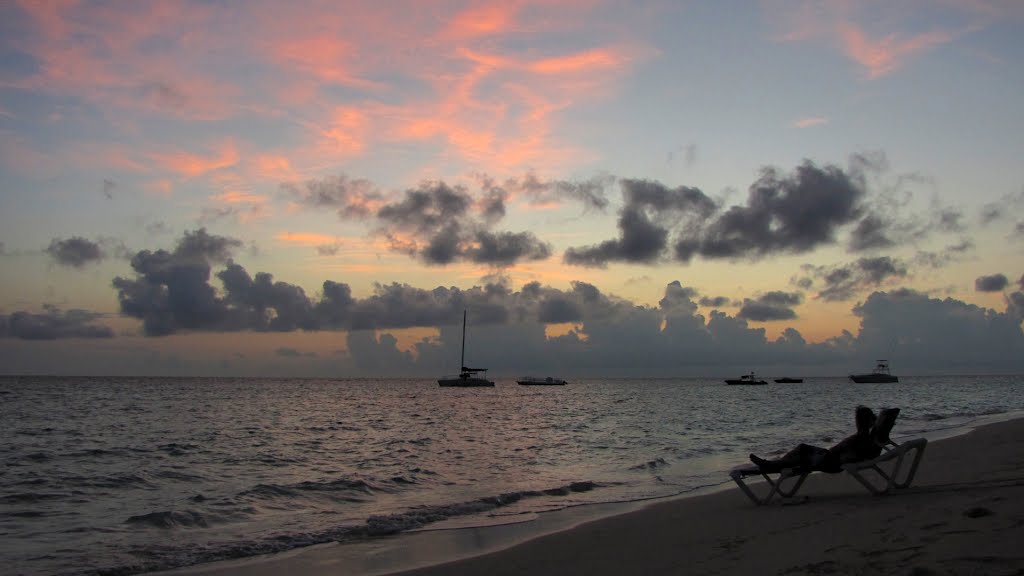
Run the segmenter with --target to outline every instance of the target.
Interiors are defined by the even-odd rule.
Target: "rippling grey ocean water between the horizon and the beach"
[[[938,438],[1024,411],[1024,376],[587,379],[0,377],[0,565],[136,574],[684,495],[748,454],[902,409]]]

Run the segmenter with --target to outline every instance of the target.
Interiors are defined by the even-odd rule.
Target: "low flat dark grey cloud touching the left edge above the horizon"
[[[102,315],[60,308],[46,304],[42,313],[15,312],[0,315],[0,337],[23,340],[55,340],[58,338],[111,338],[114,330],[98,324]]]

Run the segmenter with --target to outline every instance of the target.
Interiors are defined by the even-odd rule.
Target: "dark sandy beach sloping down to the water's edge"
[[[538,537],[516,527],[435,531],[179,573],[1024,574],[1024,419],[931,442],[914,485],[894,495],[822,474],[801,495],[756,506],[733,488]]]

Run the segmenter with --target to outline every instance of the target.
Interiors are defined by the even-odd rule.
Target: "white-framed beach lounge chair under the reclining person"
[[[837,471],[846,471],[857,482],[859,482],[864,488],[869,492],[877,495],[889,494],[895,489],[903,489],[910,486],[913,482],[913,476],[918,471],[918,464],[921,463],[921,458],[925,454],[925,446],[928,444],[928,440],[924,438],[919,438],[916,440],[909,440],[902,444],[897,444],[889,438],[889,434],[892,431],[893,425],[896,424],[896,417],[899,416],[899,408],[888,408],[879,412],[879,418],[874,422],[874,426],[871,427],[871,438],[874,442],[882,448],[882,453],[867,460],[861,460],[858,462],[847,462],[842,464],[841,470],[819,470],[813,467],[792,467],[783,468],[781,471],[776,474],[769,474],[763,471],[760,467],[756,465],[743,465],[733,468],[729,472],[729,478],[731,478],[739,489],[743,491],[743,494],[753,500],[756,504],[767,504],[775,496],[780,499],[792,498],[797,495],[800,488],[804,485],[804,481],[807,477],[815,471],[825,471],[828,474],[836,474]],[[905,478],[900,481],[900,471],[903,467],[903,463],[906,461],[908,453],[913,452],[913,459],[910,461],[909,466],[906,469]],[[885,471],[880,464],[892,462],[890,466],[890,471]],[[867,470],[873,470],[879,477],[884,481],[882,486],[879,486],[878,481],[871,482],[865,476]],[[746,485],[745,480],[752,476],[760,476],[765,479],[768,486],[771,488],[768,490],[767,494],[764,496],[758,496],[755,494],[754,490]],[[774,477],[774,478],[773,478]],[[792,481],[792,482],[791,482]],[[786,486],[787,485],[787,486]]]

